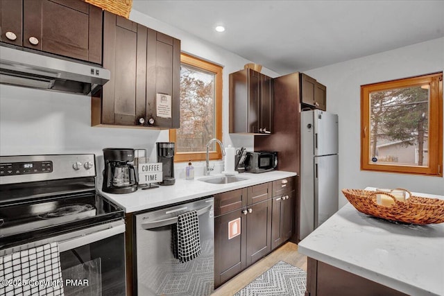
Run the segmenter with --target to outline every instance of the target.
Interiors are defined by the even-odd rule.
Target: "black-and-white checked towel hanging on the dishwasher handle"
[[[178,259],[181,263],[193,260],[200,254],[199,216],[187,211],[178,216]]]

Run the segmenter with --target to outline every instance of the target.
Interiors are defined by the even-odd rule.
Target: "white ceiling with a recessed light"
[[[133,9],[280,74],[444,36],[443,0],[135,0]]]

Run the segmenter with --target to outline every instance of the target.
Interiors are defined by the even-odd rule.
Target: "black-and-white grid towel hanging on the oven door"
[[[63,295],[58,243],[0,257],[0,296]]]

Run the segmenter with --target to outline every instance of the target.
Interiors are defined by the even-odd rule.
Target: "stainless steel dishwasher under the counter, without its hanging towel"
[[[178,215],[196,210],[201,253],[180,263],[173,254]],[[214,198],[135,215],[138,295],[210,295],[214,290]]]

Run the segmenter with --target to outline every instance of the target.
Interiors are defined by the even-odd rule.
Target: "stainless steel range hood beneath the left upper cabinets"
[[[101,89],[110,76],[110,71],[95,64],[0,46],[2,84],[90,95]]]

